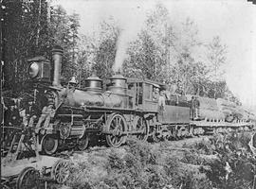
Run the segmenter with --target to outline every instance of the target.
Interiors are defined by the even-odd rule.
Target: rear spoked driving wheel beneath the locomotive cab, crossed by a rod
[[[136,130],[143,130],[143,132],[137,134],[137,139],[140,141],[147,141],[149,135],[149,128],[146,119],[137,116],[135,119]]]

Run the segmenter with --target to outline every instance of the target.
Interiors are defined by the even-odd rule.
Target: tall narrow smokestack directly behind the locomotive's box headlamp
[[[52,60],[53,60],[53,67],[54,67],[54,73],[53,73],[53,86],[60,86],[61,84],[61,71],[62,71],[62,59],[63,59],[63,53],[64,50],[61,46],[54,46],[51,50],[52,53]]]

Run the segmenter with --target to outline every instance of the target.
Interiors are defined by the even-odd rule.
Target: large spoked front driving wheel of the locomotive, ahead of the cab
[[[118,147],[125,143],[126,135],[123,135],[121,132],[126,130],[127,123],[124,117],[119,113],[112,114],[106,124],[106,131],[113,132],[113,134],[106,135],[107,145]]]

